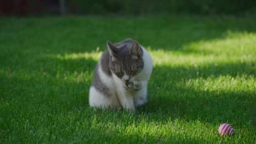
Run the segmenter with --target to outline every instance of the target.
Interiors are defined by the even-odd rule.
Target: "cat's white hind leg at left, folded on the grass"
[[[106,109],[111,106],[111,98],[104,96],[92,86],[89,92],[89,104],[91,107]]]

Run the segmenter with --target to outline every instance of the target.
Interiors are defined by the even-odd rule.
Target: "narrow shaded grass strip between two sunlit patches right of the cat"
[[[256,61],[249,62],[227,62],[208,63],[201,66],[162,66],[154,67],[152,77],[157,77],[157,81],[179,82],[181,79],[189,80],[194,78],[219,77],[220,75],[230,75],[231,77],[243,75],[256,75]],[[154,79],[154,78],[153,78]]]

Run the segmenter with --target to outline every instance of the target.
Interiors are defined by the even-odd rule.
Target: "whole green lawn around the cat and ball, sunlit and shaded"
[[[0,143],[255,143],[256,21],[200,16],[0,18]],[[152,55],[136,112],[89,107],[106,41]],[[222,138],[221,123],[235,135]]]

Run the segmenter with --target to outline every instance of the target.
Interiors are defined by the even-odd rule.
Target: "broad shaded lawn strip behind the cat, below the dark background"
[[[102,22],[104,21],[104,22]],[[223,39],[227,31],[256,32],[254,19],[200,16],[139,16],[139,17],[44,17],[5,19],[1,27],[3,48],[26,51],[30,45],[51,54],[91,52],[99,46],[105,51],[106,41],[115,43],[127,37],[138,40],[152,50],[181,51],[184,45],[199,41]],[[43,29],[43,30],[42,30]],[[11,45],[13,43],[15,45]],[[16,50],[17,51],[17,50]],[[29,51],[34,51],[31,47]],[[27,51],[27,53],[29,53]]]

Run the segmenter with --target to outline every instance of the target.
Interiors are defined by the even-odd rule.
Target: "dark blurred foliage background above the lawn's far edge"
[[[192,13],[247,16],[256,0],[0,0],[0,15]]]

